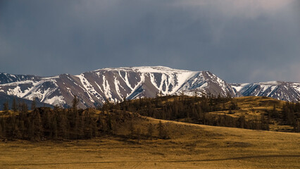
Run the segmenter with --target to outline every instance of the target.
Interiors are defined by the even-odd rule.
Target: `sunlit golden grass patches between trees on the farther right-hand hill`
[[[149,99],[153,100],[153,99]],[[160,114],[163,111],[163,106],[168,106],[172,104],[173,102],[185,103],[185,101],[192,103],[190,106],[193,105],[201,105],[202,100],[194,99],[193,96],[165,96],[165,97],[158,97],[158,99],[154,99],[152,102],[161,103],[156,106],[153,104],[154,111],[157,112],[157,114]],[[212,115],[215,119],[218,119],[219,117],[224,117],[223,115],[230,115],[235,119],[238,119],[239,117],[243,117],[246,121],[260,124],[269,124],[269,130],[270,131],[280,131],[280,132],[296,132],[295,126],[292,124],[287,123],[287,115],[284,113],[283,107],[288,103],[286,101],[280,101],[277,99],[273,99],[270,97],[264,97],[264,96],[244,96],[244,97],[237,97],[232,99],[225,99],[223,101],[213,101],[210,102],[208,99],[209,104],[209,111],[206,111],[206,114]],[[144,99],[143,101],[147,101],[147,99]],[[136,104],[138,104],[139,100],[136,100]],[[232,109],[232,103],[236,104],[236,108]],[[289,103],[292,104],[292,103]],[[173,104],[174,105],[174,104]],[[294,104],[293,104],[294,105]],[[142,107],[139,109],[139,111],[147,112],[147,107]],[[144,113],[147,114],[147,113]],[[189,110],[189,115],[192,114],[192,111]],[[202,111],[203,114],[203,111]],[[300,120],[300,113],[294,112],[294,118],[290,118],[290,120],[298,119]],[[157,117],[156,115],[155,117]],[[201,115],[200,115],[201,118]],[[261,120],[263,118],[263,120]],[[177,118],[173,119],[176,121],[181,122],[188,122],[188,123],[202,123],[203,120],[198,120],[194,117],[192,118]],[[268,120],[268,122],[266,122]],[[288,125],[289,124],[289,125]],[[222,126],[222,125],[221,125]],[[230,126],[230,125],[223,125],[223,126]],[[235,127],[232,125],[232,127]]]

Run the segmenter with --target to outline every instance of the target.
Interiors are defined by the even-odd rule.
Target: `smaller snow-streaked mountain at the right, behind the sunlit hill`
[[[300,100],[300,83],[296,82],[258,82],[231,84],[243,96],[268,96],[285,101]]]

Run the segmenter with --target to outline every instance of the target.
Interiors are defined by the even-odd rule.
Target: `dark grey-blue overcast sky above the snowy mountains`
[[[0,0],[0,72],[140,65],[300,82],[300,1]]]

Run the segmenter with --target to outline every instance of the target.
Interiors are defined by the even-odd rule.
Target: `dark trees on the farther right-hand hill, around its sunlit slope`
[[[199,96],[159,96],[154,99],[144,98],[137,100],[124,100],[120,104],[111,104],[120,110],[137,112],[163,120],[184,120],[188,123],[202,125],[215,125],[221,127],[239,127],[251,130],[270,130],[270,120],[279,115],[281,125],[294,126],[294,132],[300,131],[300,104],[287,102],[283,111],[265,111],[256,114],[254,108],[250,108],[254,118],[246,119],[244,115],[233,117],[239,106],[235,99],[229,95],[221,97],[213,94]],[[224,111],[226,113],[210,113]],[[278,119],[277,119],[278,120]]]

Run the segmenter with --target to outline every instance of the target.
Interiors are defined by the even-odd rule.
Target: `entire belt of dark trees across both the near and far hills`
[[[31,111],[27,104],[13,101],[12,110],[4,103],[0,115],[0,138],[7,139],[91,139],[107,134],[121,134],[131,139],[168,139],[168,130],[162,123],[149,124],[146,128],[137,127],[137,114],[162,120],[183,120],[188,123],[239,127],[253,130],[269,130],[270,120],[277,119],[281,125],[291,125],[300,132],[300,104],[286,102],[282,111],[273,110],[261,113],[258,117],[251,108],[253,119],[244,115],[232,116],[239,106],[230,96],[157,96],[126,100],[118,104],[106,101],[97,109],[78,108],[75,96],[71,108],[36,107],[32,101]],[[210,113],[226,111],[227,113]],[[127,134],[122,134],[122,132]],[[154,134],[156,133],[156,134]]]

